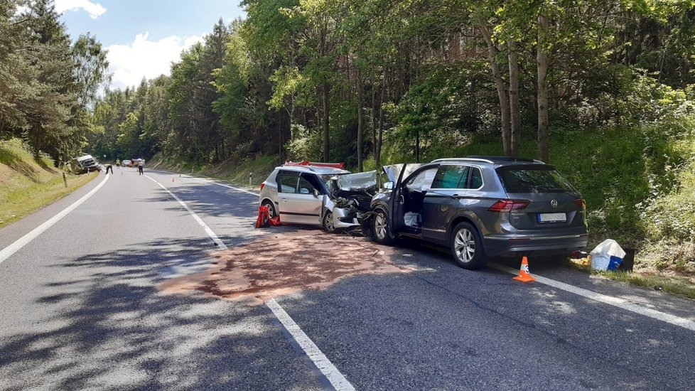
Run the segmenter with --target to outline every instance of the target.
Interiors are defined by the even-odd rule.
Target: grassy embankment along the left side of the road
[[[54,168],[53,160],[36,158],[18,139],[0,141],[0,227],[63,198],[95,176],[97,173],[77,176]]]

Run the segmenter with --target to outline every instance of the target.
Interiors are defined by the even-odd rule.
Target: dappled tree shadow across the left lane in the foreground
[[[0,389],[323,388],[266,307],[156,291],[205,247],[162,238],[50,267],[45,314],[0,334]]]

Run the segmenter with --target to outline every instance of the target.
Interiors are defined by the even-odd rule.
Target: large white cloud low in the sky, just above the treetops
[[[108,60],[114,74],[112,88],[137,86],[143,77],[152,79],[168,75],[171,63],[181,60],[181,51],[202,42],[202,36],[171,36],[149,41],[149,33],[138,34],[130,45],[110,45]]]

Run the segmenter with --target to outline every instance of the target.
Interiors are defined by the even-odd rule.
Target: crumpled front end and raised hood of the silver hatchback
[[[325,210],[333,217],[334,229],[359,227],[362,215],[370,208],[370,201],[377,193],[377,171],[352,173],[329,178]]]

